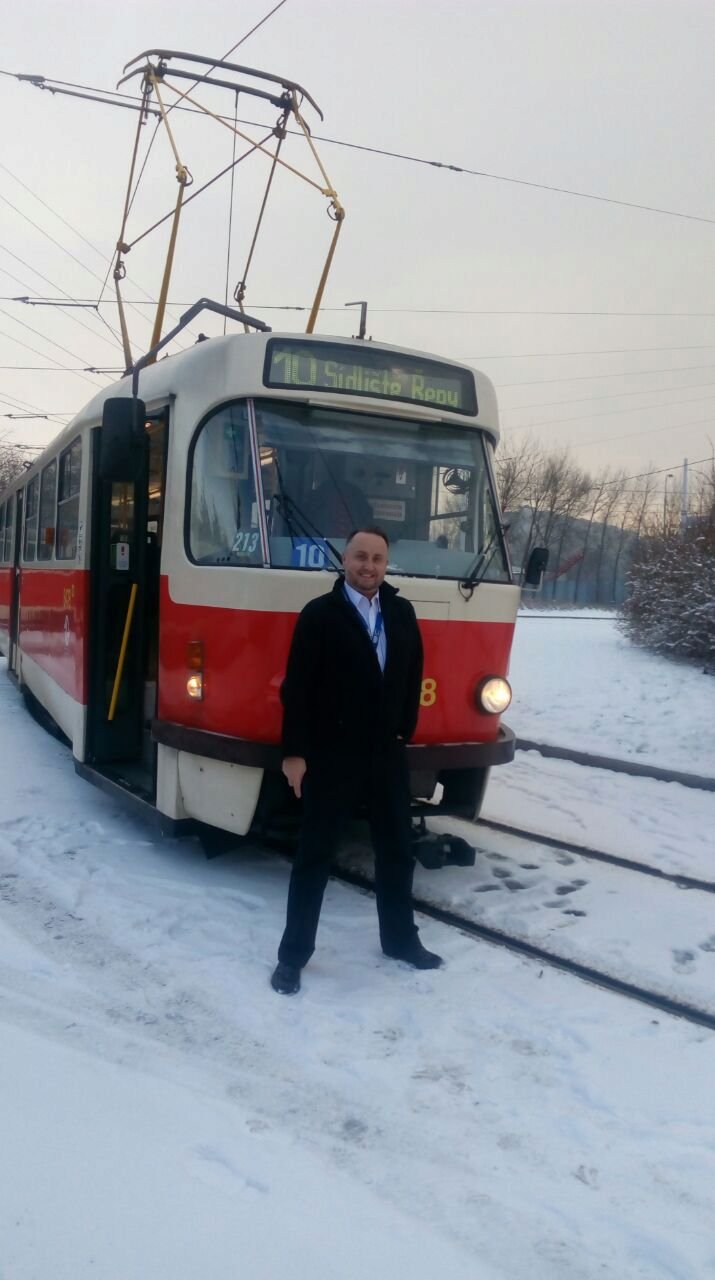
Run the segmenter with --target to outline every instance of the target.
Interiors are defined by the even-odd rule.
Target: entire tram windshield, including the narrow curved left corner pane
[[[255,410],[271,566],[336,567],[333,549],[377,525],[390,539],[389,573],[463,579],[490,547],[486,580],[510,580],[481,431],[288,401]],[[225,406],[193,457],[200,563],[262,563],[253,474],[247,406]]]

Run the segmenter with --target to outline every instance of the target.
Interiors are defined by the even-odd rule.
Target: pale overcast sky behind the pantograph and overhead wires
[[[223,56],[270,8],[28,0],[5,17],[0,70],[114,90],[143,50]],[[710,457],[714,40],[715,6],[701,0],[285,0],[233,59],[303,84],[325,114],[321,123],[306,109],[315,134],[478,172],[317,142],[347,210],[318,332],[356,333],[344,303],[365,298],[376,340],[483,370],[498,388],[503,449],[531,436],[568,445],[590,471],[628,474]],[[201,100],[233,113],[230,93]],[[6,74],[0,105],[10,124],[0,143],[0,413],[69,415],[111,380],[83,369],[122,364],[111,280],[98,312],[8,300],[98,300],[136,115]],[[270,128],[275,109],[242,97],[239,116]],[[171,119],[196,187],[230,163],[229,129]],[[147,141],[145,129],[143,150]],[[289,138],[284,155],[315,174],[304,143]],[[267,163],[253,156],[235,173],[229,298]],[[129,236],[173,209],[175,193],[160,136]],[[229,202],[224,178],[183,214],[173,320],[200,296],[224,298]],[[247,310],[278,330],[304,328],[304,312],[263,308],[310,305],[331,232],[320,192],[281,173]],[[128,255],[127,298],[156,298],[165,246],[166,228]],[[129,316],[139,353],[151,307]],[[0,417],[0,435],[43,444],[67,420]]]

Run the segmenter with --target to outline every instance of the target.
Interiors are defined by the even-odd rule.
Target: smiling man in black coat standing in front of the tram
[[[315,950],[322,895],[342,827],[365,805],[375,847],[375,892],[385,955],[417,969],[441,957],[417,936],[405,744],[420,710],[422,640],[414,609],[384,581],[388,536],[352,532],[344,580],[301,613],[281,687],[283,772],[303,800],[288,918],[271,977],[301,989]]]

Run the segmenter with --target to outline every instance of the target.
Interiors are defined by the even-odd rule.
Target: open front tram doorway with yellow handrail
[[[147,686],[156,696],[165,445],[166,421],[147,421],[142,401],[105,403],[92,458],[87,763],[145,795],[153,790]]]

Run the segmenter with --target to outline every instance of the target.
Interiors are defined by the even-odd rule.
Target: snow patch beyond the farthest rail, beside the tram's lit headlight
[[[715,777],[715,677],[638,649],[613,616],[524,611],[509,678],[521,737]]]

